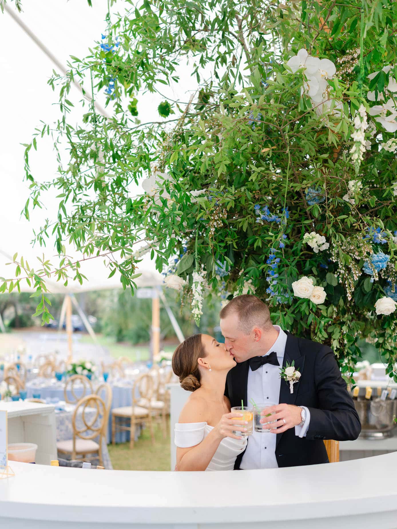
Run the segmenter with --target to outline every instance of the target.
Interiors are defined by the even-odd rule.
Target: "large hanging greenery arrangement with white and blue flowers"
[[[84,279],[62,256],[65,240],[105,256],[131,289],[148,251],[197,323],[204,296],[255,293],[274,323],[329,344],[346,374],[363,337],[393,376],[396,24],[391,0],[144,0],[109,13],[97,47],[50,79],[60,89],[59,121],[44,124],[25,151],[26,216],[50,186],[59,189],[51,231],[60,264],[43,260],[32,271],[15,257],[16,278],[0,290],[28,275],[36,314],[48,321],[46,272]],[[182,63],[197,92],[160,99]],[[70,87],[84,79],[94,98],[107,94],[112,117],[83,100],[76,127]],[[139,107],[142,90],[159,94],[155,123]],[[29,167],[43,135],[59,161],[44,184]],[[131,183],[147,176],[146,193],[131,196]]]

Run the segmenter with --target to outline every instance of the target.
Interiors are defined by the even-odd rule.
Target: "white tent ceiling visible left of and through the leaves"
[[[101,39],[101,33],[105,33],[107,0],[96,0],[93,4],[90,8],[86,0],[24,0],[24,11],[17,16],[66,66],[70,54],[85,56],[88,48]],[[15,10],[14,3],[8,5]],[[120,1],[113,10],[122,12],[125,6],[130,8],[131,4]],[[44,196],[47,209],[35,209],[30,222],[21,216],[29,196],[29,186],[23,181],[24,147],[21,143],[30,142],[34,128],[40,124],[40,120],[51,123],[59,117],[58,93],[52,92],[47,85],[52,69],[57,68],[6,12],[0,14],[0,31],[3,41],[0,51],[0,98],[3,103],[3,126],[0,131],[0,277],[12,278],[15,266],[5,266],[5,263],[15,252],[18,252],[19,257],[23,256],[25,260],[27,258],[29,265],[35,269],[40,268],[37,256],[42,257],[43,253],[46,259],[59,263],[53,249],[53,240],[48,241],[47,248],[32,248],[31,245],[34,238],[33,229],[37,230],[45,218],[56,218],[56,190],[48,191]],[[183,75],[183,66],[179,72],[181,81],[170,87],[160,85],[160,91],[173,99],[188,101],[196,88],[196,81],[195,77]],[[81,98],[77,90],[73,97],[75,101]],[[139,95],[138,110],[144,110],[145,121],[159,120],[157,106],[163,99],[159,94]],[[100,103],[104,106],[105,96]],[[75,114],[73,117],[77,121],[79,111],[76,110]],[[31,156],[31,169],[32,174],[40,181],[49,180],[56,174],[57,163],[50,140],[39,142],[38,152]],[[132,194],[141,192],[140,188],[132,189]],[[73,260],[80,257],[72,250],[69,253]],[[89,280],[84,281],[83,286],[80,286],[78,281],[69,281],[67,288],[62,286],[61,282],[54,281],[51,282],[51,287],[50,284],[48,286],[53,293],[120,287],[117,273],[107,279],[110,269],[106,268],[103,261],[103,258],[97,258],[82,264],[81,270]],[[142,272],[142,276],[137,279],[138,286],[158,285],[163,282],[149,255],[143,259],[138,272]]]

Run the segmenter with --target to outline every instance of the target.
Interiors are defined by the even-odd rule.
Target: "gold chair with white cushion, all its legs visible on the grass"
[[[138,405],[137,391],[139,391],[141,398],[147,398],[150,402],[153,395],[153,380],[149,374],[141,375],[134,381],[132,386],[132,406],[112,409],[112,444],[116,444],[116,433],[118,431],[127,431],[130,432],[130,448],[133,448],[135,427],[143,423],[149,424],[151,442],[155,444],[151,413],[148,408]],[[121,419],[121,422],[119,423],[116,419]],[[129,426],[125,424],[128,421]]]

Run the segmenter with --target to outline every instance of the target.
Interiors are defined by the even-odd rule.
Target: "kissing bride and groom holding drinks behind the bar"
[[[192,391],[175,424],[175,470],[328,463],[323,440],[357,439],[360,421],[328,345],[272,325],[267,305],[251,295],[232,299],[220,326],[224,344],[194,334],[173,355],[174,373]],[[263,410],[260,431],[247,435],[252,415],[231,412],[241,402]]]

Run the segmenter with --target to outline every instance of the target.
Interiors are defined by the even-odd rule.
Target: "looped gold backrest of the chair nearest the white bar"
[[[91,408],[94,408],[96,413],[93,418],[90,417],[88,420],[86,411],[87,414],[91,414]],[[106,418],[106,405],[98,395],[87,395],[78,401],[71,419],[73,426],[73,452],[76,450],[76,437],[80,437],[80,439],[95,439],[95,437],[100,436],[99,444],[101,446],[107,425]],[[78,419],[78,424],[76,424],[76,419]]]

